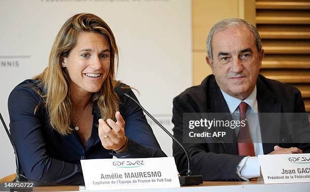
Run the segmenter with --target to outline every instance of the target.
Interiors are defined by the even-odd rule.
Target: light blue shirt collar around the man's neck
[[[257,100],[256,100],[256,93],[257,93],[256,85],[252,93],[249,95],[249,97],[243,101],[241,101],[238,98],[234,98],[230,96],[229,94],[225,93],[221,88],[220,90],[223,94],[223,97],[226,101],[226,104],[228,106],[230,113],[234,113],[238,109],[238,106],[241,104],[241,102],[247,103],[251,107],[252,109],[251,111],[253,111],[254,113],[257,113],[258,109],[257,109]]]

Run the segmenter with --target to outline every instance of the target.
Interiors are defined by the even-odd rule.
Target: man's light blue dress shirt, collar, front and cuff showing
[[[231,97],[227,93],[225,93],[222,89],[221,92],[223,97],[226,101],[228,106],[229,112],[231,114],[239,114],[238,106],[241,102],[245,102],[248,104],[246,116],[247,116],[247,123],[250,130],[250,135],[253,140],[254,151],[256,157],[245,157],[243,158],[237,166],[237,174],[243,180],[249,180],[250,178],[260,177],[260,166],[257,155],[263,155],[263,148],[261,143],[261,133],[259,127],[259,120],[258,120],[258,106],[257,106],[257,99],[256,99],[256,86],[253,92],[249,95],[249,97],[243,101]],[[249,115],[249,113],[251,113]],[[234,117],[238,117],[239,115],[235,115]],[[250,117],[250,118],[249,118]],[[235,128],[236,137],[238,137],[239,127]]]

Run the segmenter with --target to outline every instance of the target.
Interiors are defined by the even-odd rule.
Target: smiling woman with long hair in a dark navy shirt
[[[34,181],[83,184],[81,159],[165,157],[142,110],[115,93],[118,48],[107,24],[77,14],[58,32],[49,65],[9,97],[21,172]],[[126,122],[126,125],[125,125]]]

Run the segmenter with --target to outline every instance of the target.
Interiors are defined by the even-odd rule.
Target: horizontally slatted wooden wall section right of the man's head
[[[296,86],[310,112],[310,0],[256,0],[261,74]]]

